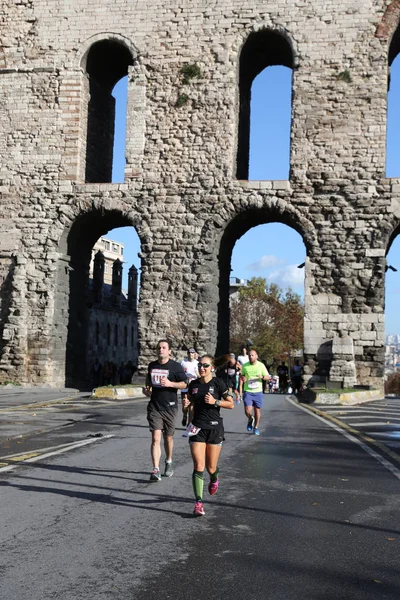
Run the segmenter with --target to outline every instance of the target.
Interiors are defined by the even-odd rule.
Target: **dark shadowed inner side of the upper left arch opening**
[[[130,50],[113,39],[95,42],[86,57],[89,86],[86,136],[87,183],[112,181],[115,97],[113,89],[133,65]]]

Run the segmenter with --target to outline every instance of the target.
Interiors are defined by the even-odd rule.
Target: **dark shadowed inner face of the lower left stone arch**
[[[89,264],[95,242],[111,229],[132,226],[141,244],[146,240],[138,217],[116,207],[94,206],[77,210],[59,242],[53,316],[53,379],[58,385],[88,385],[87,339],[93,297],[89,288]],[[108,331],[109,324],[107,325]]]

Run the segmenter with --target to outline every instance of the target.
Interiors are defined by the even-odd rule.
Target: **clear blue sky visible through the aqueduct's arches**
[[[114,89],[117,121],[113,181],[123,181],[125,163],[126,78]],[[291,71],[268,67],[254,80],[251,104],[250,179],[288,179],[291,113]],[[392,65],[388,99],[387,167],[388,177],[400,177],[400,56]],[[114,229],[107,234],[125,245],[124,276],[131,264],[140,267],[140,244],[133,227]],[[232,254],[231,276],[240,279],[265,277],[283,288],[304,293],[305,260],[301,236],[285,225],[270,223],[250,229],[241,237]],[[394,241],[388,264],[398,269],[386,275],[386,332],[400,333],[400,236]],[[126,279],[124,286],[127,286]]]

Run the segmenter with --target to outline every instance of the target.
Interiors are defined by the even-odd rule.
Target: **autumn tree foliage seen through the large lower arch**
[[[304,308],[301,298],[292,290],[268,284],[262,277],[253,277],[247,286],[239,288],[230,312],[231,349],[251,339],[259,356],[268,365],[288,359],[303,348]]]

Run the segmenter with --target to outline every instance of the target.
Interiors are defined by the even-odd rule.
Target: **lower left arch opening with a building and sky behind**
[[[140,265],[137,260],[126,264],[124,281],[123,243],[109,236],[123,228],[126,237],[128,229],[138,239],[132,225],[118,211],[98,210],[78,217],[64,233],[53,325],[53,365],[60,385],[90,389],[105,379],[117,383],[122,365],[137,366]],[[128,330],[131,344],[125,345]],[[110,363],[112,373],[94,376],[95,363],[102,369]]]

